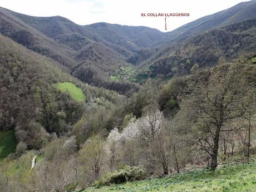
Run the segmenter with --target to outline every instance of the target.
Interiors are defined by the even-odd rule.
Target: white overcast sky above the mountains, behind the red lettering
[[[247,1],[247,0],[244,0]],[[165,31],[164,17],[141,17],[141,13],[190,13],[167,18],[167,31],[200,17],[243,2],[242,0],[0,0],[0,6],[31,16],[62,16],[85,25],[96,22],[147,26]]]

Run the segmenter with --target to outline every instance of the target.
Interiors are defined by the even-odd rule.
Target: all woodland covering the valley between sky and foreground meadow
[[[256,20],[241,14],[252,4],[176,29],[184,37],[0,8],[0,134],[13,131],[16,145],[0,159],[0,191],[71,192],[250,161]]]

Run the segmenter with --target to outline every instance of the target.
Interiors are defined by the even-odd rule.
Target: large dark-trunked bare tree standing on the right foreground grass
[[[248,93],[243,65],[221,65],[211,71],[203,83],[198,83],[182,107],[194,115],[193,134],[202,150],[211,157],[211,169],[218,166],[219,139],[230,121],[244,115],[245,97]]]

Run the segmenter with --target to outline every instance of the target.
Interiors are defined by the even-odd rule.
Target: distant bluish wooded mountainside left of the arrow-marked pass
[[[59,16],[32,17],[4,8],[0,8],[0,13],[2,35],[66,66],[82,81],[126,95],[131,95],[138,87],[131,82],[111,81],[110,76],[120,67],[131,66],[125,61],[126,57],[140,47],[154,45],[154,40],[163,34],[148,27],[107,23],[79,26]],[[102,31],[101,27],[105,31],[98,34],[96,31]],[[114,31],[120,35],[114,35]],[[150,36],[151,42],[144,40],[145,36]]]

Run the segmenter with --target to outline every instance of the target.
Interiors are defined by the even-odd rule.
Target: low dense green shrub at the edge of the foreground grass
[[[102,186],[109,184],[120,184],[127,181],[137,181],[146,178],[146,171],[143,166],[124,166],[113,173],[108,173],[97,180],[94,185]]]

